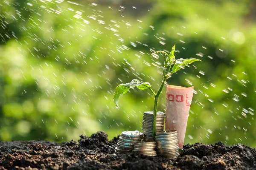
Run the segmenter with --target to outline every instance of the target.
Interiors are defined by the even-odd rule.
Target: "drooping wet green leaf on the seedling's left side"
[[[113,97],[113,101],[116,104],[116,108],[119,107],[118,105],[119,97],[122,94],[126,94],[130,88],[134,88],[135,86],[140,90],[151,88],[151,85],[149,84],[149,82],[141,82],[140,80],[137,80],[137,79],[133,79],[131,82],[118,85],[116,87],[116,91]]]

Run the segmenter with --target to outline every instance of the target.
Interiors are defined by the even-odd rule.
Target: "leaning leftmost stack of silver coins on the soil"
[[[142,139],[143,133],[138,130],[124,131],[118,139],[115,151],[116,153],[130,153],[134,148],[134,144],[141,142]]]

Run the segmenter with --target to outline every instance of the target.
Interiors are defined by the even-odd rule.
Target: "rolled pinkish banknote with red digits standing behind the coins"
[[[165,130],[177,130],[179,147],[182,149],[192,102],[194,87],[167,85]]]

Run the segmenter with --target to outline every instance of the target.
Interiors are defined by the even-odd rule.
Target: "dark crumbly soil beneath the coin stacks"
[[[104,132],[78,142],[0,142],[0,170],[256,170],[256,150],[244,144],[187,144],[177,159],[134,153],[116,155],[117,138]]]

